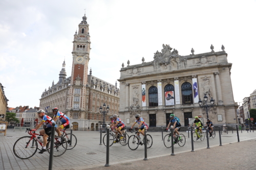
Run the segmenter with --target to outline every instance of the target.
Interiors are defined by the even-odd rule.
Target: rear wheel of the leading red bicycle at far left
[[[58,141],[58,138],[60,138],[60,141]],[[51,150],[51,141],[49,141],[46,144],[47,151],[50,153]],[[53,156],[61,156],[63,155],[68,148],[68,142],[66,141],[65,138],[61,136],[55,136],[54,137],[54,144],[53,144]]]

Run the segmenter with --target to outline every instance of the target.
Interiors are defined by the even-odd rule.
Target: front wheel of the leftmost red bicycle
[[[13,153],[16,157],[20,159],[28,159],[35,155],[37,151],[37,142],[33,138],[33,141],[30,140],[30,136],[24,136],[19,138],[13,145]]]

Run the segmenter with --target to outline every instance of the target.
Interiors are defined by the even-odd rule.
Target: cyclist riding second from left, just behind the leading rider
[[[67,127],[69,128],[69,117],[65,113],[61,113],[58,111],[59,108],[53,107],[52,112],[54,114],[53,120],[56,122],[57,119],[60,120],[61,125],[56,128],[56,132],[58,133],[58,136],[61,136],[60,130]],[[60,141],[60,138],[58,139]]]

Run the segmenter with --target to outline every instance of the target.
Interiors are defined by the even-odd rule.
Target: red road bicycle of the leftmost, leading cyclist
[[[31,129],[27,128],[26,132],[30,136],[24,136],[19,138],[13,145],[13,153],[16,157],[20,159],[28,159],[32,157],[37,149],[38,149],[38,143],[42,147],[42,142],[36,137],[35,132],[32,132]],[[61,139],[60,141],[58,139]],[[38,143],[37,143],[38,142]],[[46,150],[48,153],[50,153],[50,143],[51,143],[51,137],[49,136],[47,139],[46,144]],[[61,136],[55,136],[54,138],[54,148],[53,148],[53,156],[61,156],[63,155],[67,150],[67,142],[66,139]]]

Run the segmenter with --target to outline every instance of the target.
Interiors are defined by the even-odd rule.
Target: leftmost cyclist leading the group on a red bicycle
[[[36,131],[41,127],[42,124],[45,123],[44,129],[40,130],[39,132],[40,135],[42,135],[42,138],[44,139],[44,142],[42,144],[42,150],[38,152],[39,154],[42,154],[46,152],[47,138],[51,135],[52,123],[55,123],[55,122],[50,116],[45,115],[45,110],[40,109],[37,111],[37,114],[38,114],[38,117],[42,119],[42,121],[35,127],[35,129],[32,129],[32,131]]]

